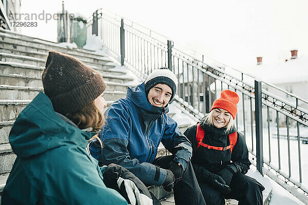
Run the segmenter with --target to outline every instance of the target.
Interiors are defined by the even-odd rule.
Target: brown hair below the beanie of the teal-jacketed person
[[[94,100],[82,109],[65,116],[80,129],[91,127],[93,132],[100,131],[105,121],[103,113],[94,105]]]

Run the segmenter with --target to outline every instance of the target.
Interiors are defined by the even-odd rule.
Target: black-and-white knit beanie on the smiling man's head
[[[169,86],[172,90],[172,95],[169,102],[172,101],[178,90],[178,79],[176,75],[165,67],[151,72],[144,81],[144,84],[146,95],[148,95],[149,90],[157,84],[165,84]]]

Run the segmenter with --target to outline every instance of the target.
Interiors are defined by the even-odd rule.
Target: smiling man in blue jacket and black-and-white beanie
[[[126,98],[105,113],[103,147],[92,141],[90,152],[104,165],[125,167],[146,185],[174,189],[176,204],[205,204],[190,163],[190,142],[166,114],[177,86],[175,74],[161,68],[141,85],[128,88]],[[160,142],[172,155],[156,157]]]

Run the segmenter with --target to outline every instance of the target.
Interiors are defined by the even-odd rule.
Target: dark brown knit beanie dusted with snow
[[[85,107],[106,89],[99,72],[56,51],[49,51],[42,80],[54,110],[64,115]]]

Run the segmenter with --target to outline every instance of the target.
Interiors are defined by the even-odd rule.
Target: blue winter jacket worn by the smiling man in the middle
[[[151,164],[160,142],[184,169],[192,152],[189,140],[167,112],[167,106],[159,108],[148,103],[144,83],[128,88],[126,98],[115,101],[105,112],[105,125],[99,135],[103,149],[92,141],[91,155],[104,165],[117,163],[125,167],[147,185],[161,186],[166,170]]]

